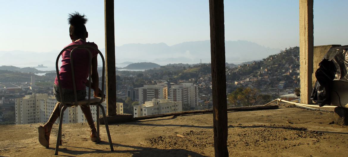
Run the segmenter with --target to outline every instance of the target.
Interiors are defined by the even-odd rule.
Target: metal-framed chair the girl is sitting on
[[[71,53],[70,53],[70,62],[71,62],[71,72],[72,72],[72,82],[73,82],[73,89],[74,89],[74,96],[75,96],[75,101],[74,102],[65,102],[64,101],[64,97],[62,96],[63,94],[61,94],[61,104],[60,104],[60,108],[61,108],[61,113],[60,113],[60,120],[59,120],[59,128],[58,128],[58,136],[57,136],[57,144],[56,144],[56,150],[54,155],[58,155],[58,149],[59,149],[59,145],[61,145],[60,141],[62,140],[62,122],[63,122],[63,114],[66,108],[68,107],[73,107],[73,106],[84,106],[84,105],[95,105],[97,106],[97,143],[100,142],[99,141],[99,107],[102,109],[102,113],[103,113],[103,117],[104,117],[104,124],[105,124],[105,129],[106,129],[106,133],[108,134],[108,139],[109,139],[109,144],[110,144],[110,149],[111,151],[113,151],[113,146],[112,146],[112,141],[111,141],[111,136],[110,136],[110,131],[109,131],[109,125],[108,125],[108,121],[106,120],[106,115],[105,115],[105,110],[104,107],[101,105],[101,103],[104,101],[104,97],[91,97],[90,96],[90,87],[91,87],[91,65],[92,65],[92,53],[89,49],[94,49],[95,51],[97,51],[99,53],[99,55],[102,58],[103,61],[103,70],[102,70],[102,89],[101,91],[104,91],[104,78],[105,78],[105,60],[103,57],[103,54],[94,46],[92,45],[71,45],[68,47],[65,47],[58,55],[57,60],[56,60],[56,72],[57,72],[57,79],[58,79],[58,86],[59,86],[59,90],[60,93],[62,93],[62,88],[61,88],[61,80],[60,80],[60,75],[59,75],[59,69],[58,69],[58,61],[60,59],[60,56],[62,55],[62,53],[65,50],[68,49],[72,49]],[[74,76],[74,68],[73,68],[73,58],[72,58],[72,54],[73,52],[75,52],[78,49],[85,49],[87,50],[87,52],[89,53],[89,78],[88,78],[88,96],[81,101],[77,101],[77,94],[76,94],[76,84],[75,84],[75,76]],[[102,93],[103,94],[103,93]]]

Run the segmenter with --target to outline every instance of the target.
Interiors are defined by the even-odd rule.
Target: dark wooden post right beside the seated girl
[[[105,69],[106,69],[106,113],[116,115],[116,64],[115,27],[113,0],[104,0],[105,16]]]

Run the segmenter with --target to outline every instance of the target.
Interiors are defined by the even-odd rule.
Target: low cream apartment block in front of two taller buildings
[[[164,114],[171,112],[181,112],[182,103],[173,102],[169,99],[155,99],[146,101],[142,105],[136,105],[134,108],[134,117],[141,117],[146,115]]]

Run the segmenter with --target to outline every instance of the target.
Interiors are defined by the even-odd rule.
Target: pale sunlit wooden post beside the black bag
[[[313,0],[300,0],[300,95],[302,104],[311,104],[313,73]]]

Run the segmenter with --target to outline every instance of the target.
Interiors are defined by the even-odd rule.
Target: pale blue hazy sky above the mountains
[[[226,40],[271,48],[299,45],[298,0],[225,0]],[[347,45],[347,0],[314,1],[315,45]],[[49,52],[71,42],[68,13],[89,19],[88,41],[104,48],[103,0],[0,0],[0,51]],[[115,0],[116,45],[209,40],[208,0]]]

